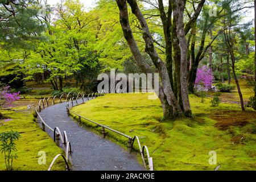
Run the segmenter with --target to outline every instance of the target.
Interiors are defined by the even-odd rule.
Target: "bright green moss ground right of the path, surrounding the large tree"
[[[194,118],[167,122],[161,122],[159,100],[148,100],[147,94],[107,94],[72,110],[131,137],[138,135],[148,146],[156,170],[213,171],[218,164],[220,170],[256,170],[255,111],[241,113],[239,105],[229,103],[211,107],[210,100],[206,98],[202,104],[200,98],[191,95]],[[229,123],[234,113],[238,113],[237,118],[247,114],[246,125],[237,126],[236,118]],[[225,130],[216,127],[227,122]],[[109,135],[126,146],[126,138],[111,132]],[[210,151],[217,152],[217,165],[209,164]]]

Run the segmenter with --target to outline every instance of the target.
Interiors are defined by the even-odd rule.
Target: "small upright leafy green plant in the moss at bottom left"
[[[7,171],[13,170],[13,160],[18,158],[16,154],[13,154],[13,152],[17,150],[14,141],[18,140],[19,137],[20,134],[16,131],[0,133],[0,141],[2,142],[0,151],[5,156],[5,165]]]

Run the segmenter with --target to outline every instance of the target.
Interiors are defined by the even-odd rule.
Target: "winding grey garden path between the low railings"
[[[61,131],[67,131],[73,151],[74,171],[145,170],[135,156],[122,147],[79,127],[72,118],[68,117],[66,105],[67,103],[49,106],[42,110],[40,115],[50,127],[59,127]],[[53,133],[47,129],[46,131],[53,138]]]

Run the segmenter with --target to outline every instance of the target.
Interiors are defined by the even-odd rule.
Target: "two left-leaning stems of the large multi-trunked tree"
[[[116,2],[119,8],[120,23],[122,26],[123,35],[125,36],[135,60],[137,61],[138,67],[141,68],[144,73],[152,73],[150,66],[144,60],[141,51],[139,51],[133,36],[133,32],[131,31],[126,0],[116,0]],[[148,29],[146,20],[144,19],[144,16],[137,5],[137,2],[135,0],[128,0],[127,2],[131,7],[132,13],[137,17],[139,23],[141,24],[143,30],[143,39],[146,43],[146,52],[148,55],[150,55],[161,77],[162,85],[159,86],[159,99],[163,106],[164,119],[175,119],[182,114],[182,111],[177,104],[177,100],[172,90],[170,76],[168,75],[166,65],[164,65],[163,61],[158,56],[158,53],[155,51],[152,36]]]

